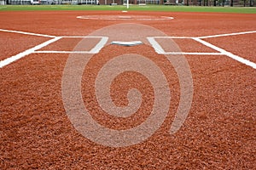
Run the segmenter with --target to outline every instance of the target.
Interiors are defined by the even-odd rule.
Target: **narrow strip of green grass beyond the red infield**
[[[0,5],[0,11],[33,10],[127,10],[123,5]],[[170,12],[218,12],[256,14],[255,7],[199,7],[199,6],[165,6],[165,5],[131,5],[134,11],[170,11]]]

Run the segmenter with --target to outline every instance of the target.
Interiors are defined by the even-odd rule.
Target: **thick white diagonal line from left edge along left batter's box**
[[[40,48],[44,48],[45,46],[47,46],[47,45],[49,45],[50,43],[55,42],[55,41],[57,41],[57,40],[59,40],[59,39],[61,39],[61,37],[55,37],[55,38],[53,38],[53,39],[50,39],[50,40],[47,41],[47,42],[43,42],[43,43],[41,43],[41,44],[35,46],[35,47],[33,47],[33,48],[29,48],[29,49],[27,49],[26,51],[24,51],[24,52],[22,52],[22,53],[20,53],[20,54],[16,54],[16,55],[14,55],[14,56],[12,56],[12,57],[9,57],[9,58],[7,58],[7,59],[3,59],[3,60],[0,61],[0,68],[3,68],[4,66],[13,63],[13,62],[15,62],[16,60],[21,59],[21,58],[25,57],[25,56],[28,55],[28,54],[32,54],[32,53],[34,53],[36,50],[38,50],[38,49],[40,49]]]

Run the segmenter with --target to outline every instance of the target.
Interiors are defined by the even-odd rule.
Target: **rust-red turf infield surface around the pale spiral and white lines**
[[[170,21],[79,20],[79,15],[121,12],[1,12],[0,29],[54,36],[86,36],[104,26],[141,23],[168,36],[198,37],[256,30],[255,14],[146,13],[172,16]],[[26,40],[14,41],[0,32],[1,59],[19,54]],[[4,41],[2,40],[4,37]],[[19,39],[19,37],[22,37]],[[207,38],[205,41],[255,62],[255,34]],[[28,48],[38,43],[28,38]],[[236,39],[237,38],[237,39]],[[240,42],[241,43],[234,43]],[[5,42],[5,40],[7,42]],[[25,41],[25,42],[24,42]],[[71,50],[79,42],[52,43],[44,50]],[[17,44],[17,46],[16,46]],[[198,42],[177,40],[185,52],[216,52]],[[250,50],[243,50],[249,47]],[[195,50],[194,50],[195,49]],[[29,54],[0,70],[0,169],[253,169],[256,164],[256,70],[225,55],[186,55],[193,77],[194,95],[189,116],[170,134],[180,98],[177,74],[162,55],[147,46],[102,48],[85,68],[82,79],[84,105],[105,127],[136,127],[150,114],[154,92],[147,78],[126,72],[114,79],[111,97],[115,105],[127,105],[125,93],[137,88],[143,94],[141,108],[126,119],[101,111],[93,93],[93,80],[104,63],[122,53],[137,53],[154,61],[166,76],[172,99],[165,122],[140,144],[113,148],[84,138],[67,117],[61,98],[61,78],[68,54]]]

